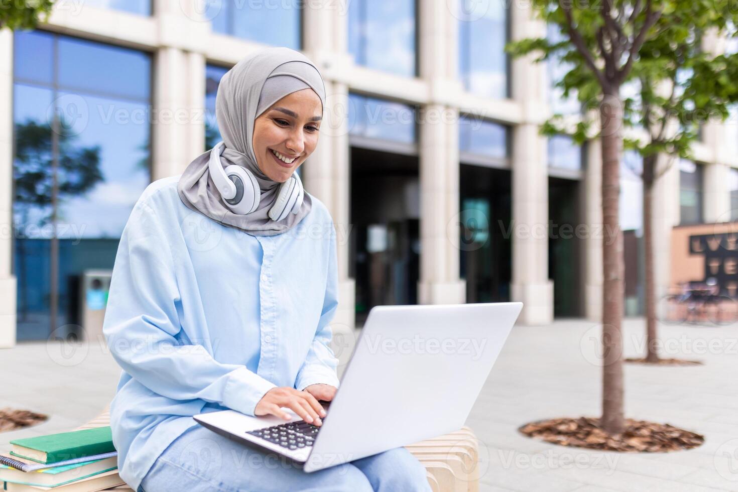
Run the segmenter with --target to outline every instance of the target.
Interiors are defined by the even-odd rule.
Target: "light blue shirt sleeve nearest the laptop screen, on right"
[[[338,387],[338,359],[331,350],[331,327],[328,325],[338,308],[338,259],[336,252],[336,229],[332,229],[328,257],[328,281],[325,286],[323,311],[320,313],[313,342],[303,366],[297,373],[295,389],[303,390],[311,384],[330,384]]]

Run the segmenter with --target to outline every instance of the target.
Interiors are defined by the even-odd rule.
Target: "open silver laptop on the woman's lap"
[[[373,308],[323,426],[234,410],[208,429],[317,471],[458,430],[500,355],[521,302]]]

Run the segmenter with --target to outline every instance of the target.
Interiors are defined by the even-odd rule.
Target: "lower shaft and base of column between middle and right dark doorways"
[[[512,164],[512,285],[523,302],[520,322],[554,320],[554,283],[548,279],[548,169],[538,125],[514,128]]]

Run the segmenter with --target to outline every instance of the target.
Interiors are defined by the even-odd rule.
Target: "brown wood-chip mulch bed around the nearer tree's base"
[[[599,418],[554,418],[526,423],[518,429],[528,437],[548,443],[576,448],[623,451],[636,453],[663,453],[696,448],[705,437],[694,432],[645,420],[625,420],[622,434],[607,434],[599,428]]]

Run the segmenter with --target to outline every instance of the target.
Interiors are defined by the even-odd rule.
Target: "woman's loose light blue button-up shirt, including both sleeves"
[[[300,224],[252,236],[188,209],[179,176],[151,183],[120,238],[103,333],[123,368],[111,403],[120,477],[137,490],[192,415],[254,415],[273,387],[338,387],[328,323],[336,235],[311,195]]]

